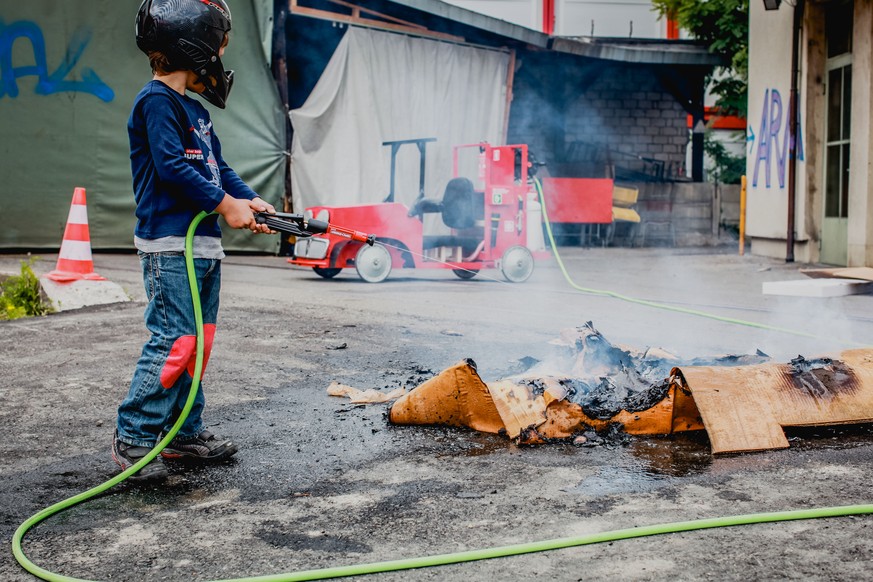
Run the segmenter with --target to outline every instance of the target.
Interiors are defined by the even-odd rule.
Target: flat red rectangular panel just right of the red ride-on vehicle
[[[543,178],[543,197],[552,222],[612,222],[609,178]]]

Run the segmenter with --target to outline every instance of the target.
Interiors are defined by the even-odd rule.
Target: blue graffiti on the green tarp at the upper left
[[[32,60],[28,59],[26,64],[12,62],[12,47],[16,40],[30,41]],[[21,77],[36,77],[34,91],[38,95],[64,92],[89,93],[102,101],[112,101],[115,98],[115,91],[104,83],[93,69],[82,67],[81,80],[68,78],[90,42],[90,30],[84,27],[76,29],[70,37],[63,60],[53,72],[49,73],[42,29],[28,20],[19,20],[11,24],[0,20],[0,99],[7,96],[13,99],[18,97],[18,79]],[[18,56],[20,59],[20,51]]]

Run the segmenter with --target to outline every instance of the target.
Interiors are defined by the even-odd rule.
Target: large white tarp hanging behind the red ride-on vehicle
[[[291,112],[295,212],[383,201],[391,148],[382,142],[404,139],[437,138],[427,145],[425,195],[441,198],[452,146],[504,143],[509,62],[505,51],[350,28],[306,103]],[[418,176],[417,148],[404,145],[395,201],[415,201]]]

